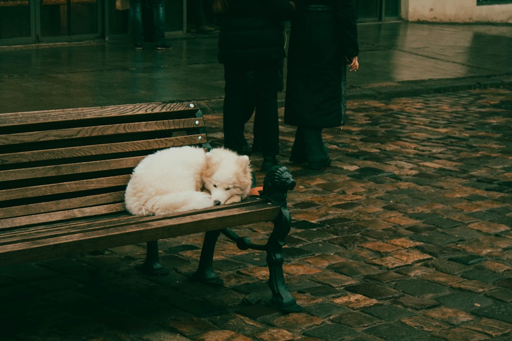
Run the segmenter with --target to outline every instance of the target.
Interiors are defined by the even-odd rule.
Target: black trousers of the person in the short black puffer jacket
[[[255,109],[262,154],[279,154],[278,70],[278,60],[224,64],[224,147],[242,152],[245,123]]]

